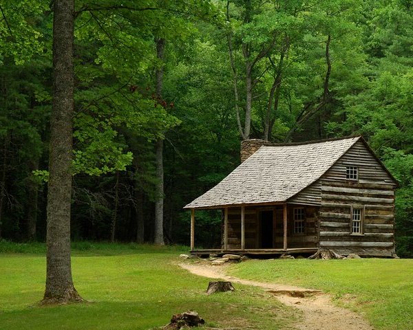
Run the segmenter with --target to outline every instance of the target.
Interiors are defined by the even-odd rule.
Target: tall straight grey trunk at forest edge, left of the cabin
[[[156,55],[163,61],[165,53],[165,39],[156,41]],[[162,100],[163,66],[156,69],[156,96]],[[163,234],[163,201],[164,201],[164,170],[163,170],[163,140],[156,141],[156,201],[155,201],[155,244],[164,245]]]

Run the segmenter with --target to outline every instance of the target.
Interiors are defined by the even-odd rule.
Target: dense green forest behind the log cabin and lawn
[[[241,140],[363,135],[400,182],[413,257],[412,0],[75,5],[72,239],[188,244],[182,207]],[[53,19],[50,1],[0,3],[0,239],[46,238]],[[199,212],[198,244],[220,223]]]

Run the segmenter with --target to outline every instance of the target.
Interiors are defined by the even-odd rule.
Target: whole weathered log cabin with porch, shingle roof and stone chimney
[[[397,181],[361,136],[245,140],[240,166],[185,209],[192,254],[392,257]],[[195,210],[222,210],[221,249],[195,249]]]

